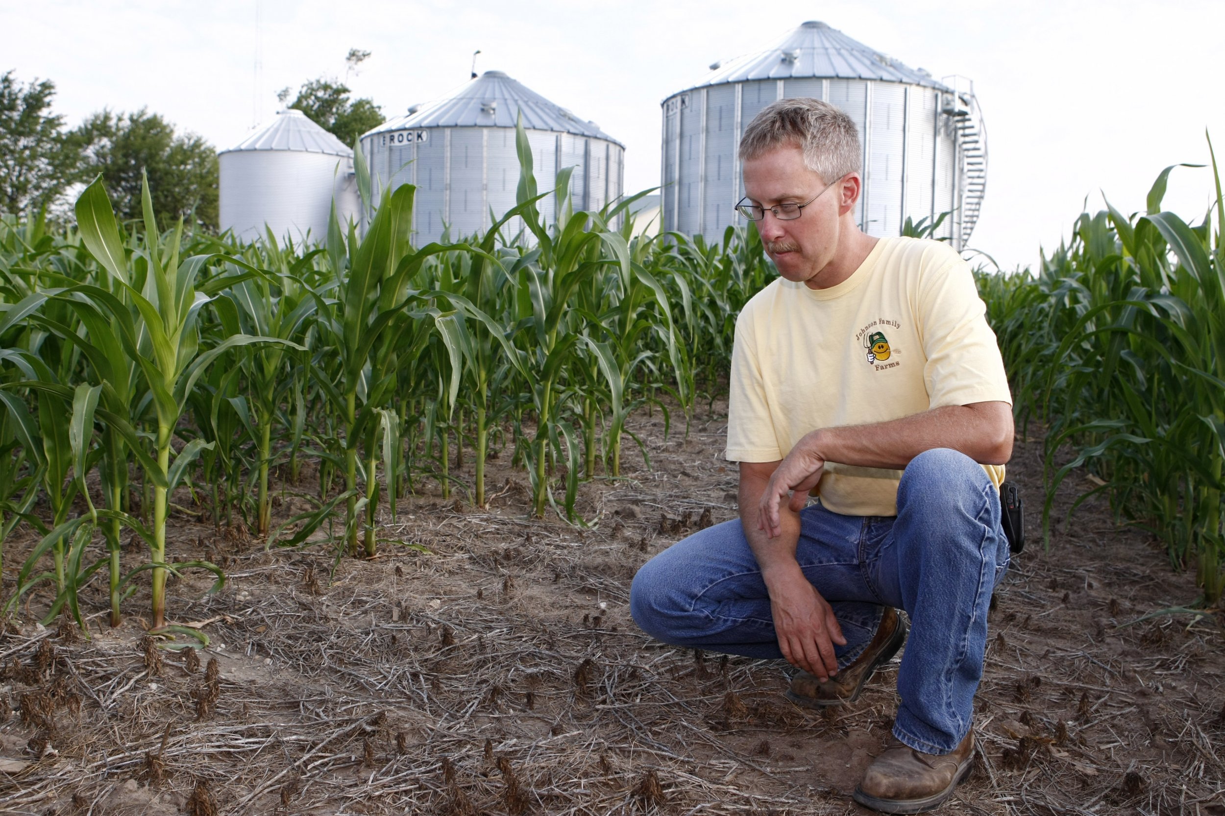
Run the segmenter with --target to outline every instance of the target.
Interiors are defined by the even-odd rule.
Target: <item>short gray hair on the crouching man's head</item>
[[[859,173],[862,167],[864,151],[855,123],[821,99],[779,99],[762,108],[740,138],[740,161],[755,159],[784,145],[799,147],[804,165],[827,184],[848,173]]]

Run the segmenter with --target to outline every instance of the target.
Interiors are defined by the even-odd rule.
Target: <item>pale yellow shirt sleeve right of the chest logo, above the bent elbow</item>
[[[946,246],[932,247],[924,260],[918,306],[931,407],[1012,404],[1000,346],[969,263]]]

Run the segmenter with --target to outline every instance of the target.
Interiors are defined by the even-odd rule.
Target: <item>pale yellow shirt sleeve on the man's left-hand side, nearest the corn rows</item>
[[[736,319],[728,377],[728,450],[724,456],[729,462],[777,462],[783,458],[755,339],[752,312],[746,309]]]

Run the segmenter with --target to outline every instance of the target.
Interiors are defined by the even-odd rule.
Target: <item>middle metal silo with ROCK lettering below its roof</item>
[[[621,196],[620,142],[506,74],[485,71],[448,97],[414,105],[361,136],[376,191],[417,185],[414,243],[439,240],[445,227],[452,239],[470,235],[490,227],[490,210],[501,217],[514,206],[521,113],[540,192],[554,189],[559,170],[573,167],[575,210],[600,210]],[[554,205],[554,196],[538,203],[550,221]]]

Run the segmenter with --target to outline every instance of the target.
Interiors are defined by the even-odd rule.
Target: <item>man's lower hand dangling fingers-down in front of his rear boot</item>
[[[767,587],[783,657],[824,682],[838,673],[834,643],[846,644],[834,610],[799,569],[782,571]]]

